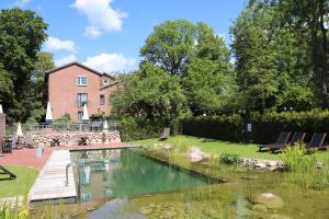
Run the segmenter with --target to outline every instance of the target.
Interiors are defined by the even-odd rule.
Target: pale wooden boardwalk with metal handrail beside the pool
[[[69,150],[54,150],[30,191],[29,201],[76,198],[72,168],[68,171],[69,185],[65,186],[66,165],[69,162],[71,162]]]

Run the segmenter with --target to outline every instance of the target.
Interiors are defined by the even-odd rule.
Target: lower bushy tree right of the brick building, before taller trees
[[[177,76],[150,62],[122,79],[122,89],[112,97],[113,111],[147,119],[163,118],[170,124],[185,108],[185,96]]]

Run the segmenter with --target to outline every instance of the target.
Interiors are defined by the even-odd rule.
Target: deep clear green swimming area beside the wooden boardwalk
[[[180,191],[207,184],[207,178],[191,176],[169,165],[126,149],[71,153],[78,163],[76,177],[82,201]]]

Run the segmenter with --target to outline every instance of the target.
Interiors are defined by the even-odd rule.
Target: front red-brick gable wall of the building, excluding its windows
[[[88,78],[88,85],[77,84],[78,76]],[[59,69],[48,74],[48,100],[53,110],[53,118],[60,118],[70,114],[72,120],[78,120],[78,93],[88,93],[88,113],[95,114],[100,111],[100,74],[91,72],[77,65]]]

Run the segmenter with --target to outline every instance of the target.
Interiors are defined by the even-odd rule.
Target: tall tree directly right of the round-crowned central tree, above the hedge
[[[196,31],[182,84],[194,115],[215,114],[231,105],[235,83],[230,53],[223,38],[205,23],[198,23]]]

